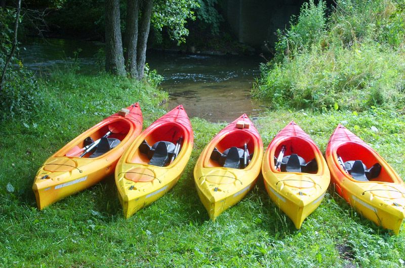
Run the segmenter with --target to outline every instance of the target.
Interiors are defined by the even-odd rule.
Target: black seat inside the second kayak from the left
[[[149,165],[165,167],[172,158],[175,147],[176,145],[170,141],[158,141],[152,146],[149,146],[146,140],[144,140],[139,146],[139,150],[141,153],[148,156],[150,159],[148,163]]]

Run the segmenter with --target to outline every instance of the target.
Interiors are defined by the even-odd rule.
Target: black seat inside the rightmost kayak
[[[370,169],[361,160],[350,160],[343,163],[347,172],[357,181],[368,182],[377,178],[381,172],[381,165],[376,163]]]

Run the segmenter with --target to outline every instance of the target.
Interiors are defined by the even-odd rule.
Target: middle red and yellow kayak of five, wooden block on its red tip
[[[194,181],[211,219],[215,220],[254,187],[262,158],[262,139],[245,114],[204,148],[195,164]]]

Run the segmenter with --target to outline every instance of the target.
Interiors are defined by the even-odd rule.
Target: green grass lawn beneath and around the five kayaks
[[[33,177],[53,152],[137,100],[147,126],[163,114],[158,104],[167,97],[144,84],[106,75],[57,75],[40,84],[47,96],[43,111],[25,122],[1,126],[3,266],[395,267],[405,259],[405,226],[391,236],[359,216],[332,189],[299,231],[270,200],[262,178],[242,201],[210,221],[195,190],[193,168],[201,150],[226,124],[198,118],[191,120],[195,146],[178,184],[130,219],[122,215],[113,177],[38,211],[31,190]],[[403,115],[381,109],[358,115],[268,112],[255,121],[265,146],[290,120],[307,131],[322,151],[336,125],[343,122],[405,177]],[[13,192],[6,189],[9,183]]]

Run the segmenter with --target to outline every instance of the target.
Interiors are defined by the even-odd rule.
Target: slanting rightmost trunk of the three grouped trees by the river
[[[150,29],[150,16],[152,14],[152,8],[153,8],[153,0],[145,0],[143,2],[140,33],[138,38],[138,60],[137,60],[138,80],[141,80],[143,78],[145,72],[146,44],[148,42],[148,35]]]

